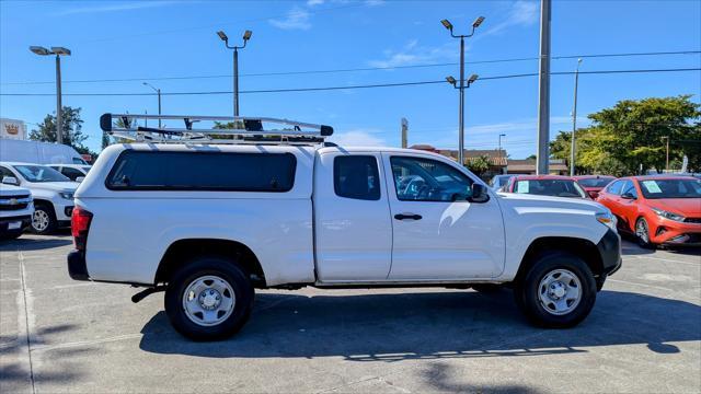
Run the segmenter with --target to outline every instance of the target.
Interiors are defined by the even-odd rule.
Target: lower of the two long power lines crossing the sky
[[[579,74],[612,74],[612,73],[648,73],[648,72],[685,72],[685,71],[701,71],[701,68],[673,68],[673,69],[641,69],[641,70],[597,70],[597,71],[579,71]],[[574,71],[559,71],[552,72],[551,76],[571,76]],[[537,72],[518,73],[507,76],[494,76],[482,77],[480,81],[487,80],[501,80],[513,78],[536,77]],[[445,80],[438,81],[412,81],[412,82],[397,82],[397,83],[372,83],[372,84],[358,84],[346,86],[318,86],[318,88],[289,88],[289,89],[261,89],[261,90],[248,90],[240,91],[241,94],[252,93],[290,93],[290,92],[319,92],[319,91],[335,91],[335,90],[353,90],[353,89],[374,89],[374,88],[398,88],[398,86],[415,86],[426,84],[446,83]],[[217,95],[217,94],[231,94],[231,91],[205,91],[205,92],[162,92],[161,95]],[[55,93],[0,93],[0,96],[54,96]],[[64,93],[64,96],[152,96],[157,93],[139,92],[139,93]]]

